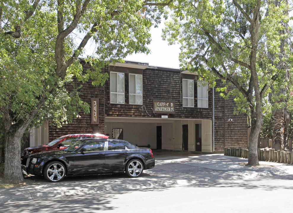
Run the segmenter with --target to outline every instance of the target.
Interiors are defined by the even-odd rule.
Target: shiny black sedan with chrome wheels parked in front
[[[44,175],[50,182],[63,180],[65,175],[91,175],[126,172],[139,177],[143,170],[155,166],[151,149],[140,148],[127,141],[110,139],[84,139],[62,151],[31,154],[26,172]]]

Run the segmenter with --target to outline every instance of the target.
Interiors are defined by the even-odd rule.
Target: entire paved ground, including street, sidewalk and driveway
[[[247,159],[223,154],[154,155],[156,166],[140,178],[93,175],[49,183],[32,177],[34,185],[0,189],[0,212],[276,212],[293,204],[293,165],[247,167]]]

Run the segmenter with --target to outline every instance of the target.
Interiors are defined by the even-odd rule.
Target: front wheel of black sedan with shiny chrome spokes
[[[44,168],[44,177],[50,182],[59,182],[65,177],[65,166],[59,161],[49,162]]]

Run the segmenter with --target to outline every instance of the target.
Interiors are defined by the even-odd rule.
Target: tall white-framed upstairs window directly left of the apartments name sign
[[[143,104],[143,75],[129,74],[129,104]]]

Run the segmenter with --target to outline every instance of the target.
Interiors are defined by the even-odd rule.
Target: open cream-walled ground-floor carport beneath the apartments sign
[[[212,152],[212,121],[105,117],[106,134],[151,149]]]

